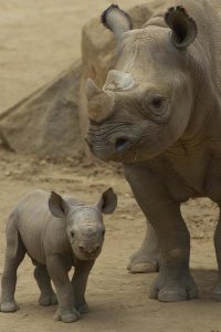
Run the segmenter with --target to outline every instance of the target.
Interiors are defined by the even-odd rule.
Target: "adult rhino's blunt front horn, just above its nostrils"
[[[114,112],[115,94],[99,90],[93,80],[87,81],[86,94],[90,120],[101,123]]]

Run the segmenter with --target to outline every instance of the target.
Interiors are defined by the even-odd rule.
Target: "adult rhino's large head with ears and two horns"
[[[103,89],[87,81],[86,141],[104,160],[152,158],[179,139],[190,121],[193,82],[188,49],[197,25],[181,7],[170,8],[161,22],[152,18],[131,30],[130,17],[113,4],[102,22],[116,39],[116,68]]]

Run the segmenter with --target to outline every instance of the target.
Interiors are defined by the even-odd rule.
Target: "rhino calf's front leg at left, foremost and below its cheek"
[[[65,323],[75,322],[80,318],[80,313],[74,304],[74,292],[72,283],[69,279],[69,268],[63,257],[50,256],[46,259],[49,276],[51,277],[59,302],[59,308],[54,319]]]

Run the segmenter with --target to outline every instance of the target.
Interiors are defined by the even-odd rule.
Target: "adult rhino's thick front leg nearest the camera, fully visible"
[[[145,166],[125,168],[126,178],[141,210],[151,222],[161,249],[159,274],[150,291],[151,299],[164,302],[198,297],[189,271],[190,236],[179,203],[171,199],[159,177]]]

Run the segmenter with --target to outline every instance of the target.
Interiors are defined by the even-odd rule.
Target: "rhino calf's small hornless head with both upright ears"
[[[72,250],[81,260],[95,259],[99,255],[105,236],[102,214],[114,212],[116,206],[117,196],[112,188],[104,191],[94,206],[70,205],[54,191],[49,199],[52,215],[65,220]]]

